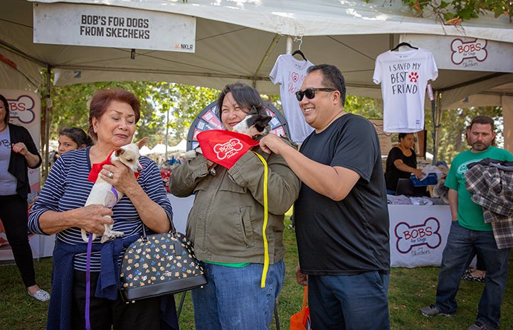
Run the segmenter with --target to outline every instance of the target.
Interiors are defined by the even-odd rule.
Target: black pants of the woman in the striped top
[[[90,324],[93,330],[159,330],[159,297],[141,299],[126,304],[118,295],[117,300],[94,297],[100,273],[90,273]],[[73,280],[73,307],[71,329],[85,329],[85,272],[75,270]],[[113,326],[113,327],[112,327]]]

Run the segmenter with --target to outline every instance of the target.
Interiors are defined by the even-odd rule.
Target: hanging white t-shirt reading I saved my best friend
[[[428,80],[437,77],[433,54],[423,48],[388,50],[376,58],[372,79],[381,83],[385,132],[413,133],[424,129],[425,87]]]

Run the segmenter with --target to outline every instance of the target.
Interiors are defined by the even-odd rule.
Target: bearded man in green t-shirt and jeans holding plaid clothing
[[[467,165],[485,158],[513,161],[509,151],[492,146],[494,138],[493,119],[487,116],[475,117],[470,128],[467,128],[470,150],[456,155],[450,165],[445,186],[449,188],[448,199],[453,222],[438,273],[436,302],[420,309],[425,317],[453,316],[458,307],[456,294],[461,276],[477,252],[478,258],[485,262],[487,275],[485,289],[477,307],[476,321],[467,330],[495,330],[499,327],[506,290],[511,248],[497,248],[492,224],[485,223],[481,205],[472,201],[472,194],[465,186]]]

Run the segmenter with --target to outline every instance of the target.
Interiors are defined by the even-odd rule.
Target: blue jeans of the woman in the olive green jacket
[[[285,282],[283,260],[269,265],[260,287],[263,264],[243,268],[203,263],[208,283],[192,290],[196,330],[267,330],[275,299]]]

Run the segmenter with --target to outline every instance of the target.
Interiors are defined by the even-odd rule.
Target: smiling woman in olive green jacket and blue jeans
[[[252,110],[266,114],[253,87],[236,83],[221,91],[217,112],[227,130]],[[273,318],[285,280],[283,218],[297,198],[300,180],[280,155],[254,151],[268,164],[265,287],[264,165],[258,155],[247,151],[229,170],[198,155],[176,167],[170,177],[172,194],[196,194],[186,229],[208,278],[207,285],[192,290],[196,330],[268,329]]]

